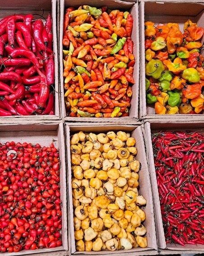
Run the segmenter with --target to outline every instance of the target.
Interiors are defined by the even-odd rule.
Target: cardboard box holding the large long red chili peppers
[[[47,18],[47,15],[52,15],[52,31],[53,31],[53,51],[55,61],[55,115],[44,116],[0,116],[0,123],[5,123],[7,120],[59,120],[60,119],[60,87],[58,80],[59,65],[58,65],[58,47],[57,47],[57,0],[27,0],[26,3],[22,0],[1,0],[0,1],[0,19],[12,14],[41,14]],[[38,15],[34,18],[39,19]],[[43,20],[44,21],[44,20]]]

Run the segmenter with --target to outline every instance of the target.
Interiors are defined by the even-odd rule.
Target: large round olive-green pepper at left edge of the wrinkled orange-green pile
[[[158,79],[164,70],[165,67],[163,63],[158,59],[151,59],[145,67],[146,75],[152,76],[155,79]]]

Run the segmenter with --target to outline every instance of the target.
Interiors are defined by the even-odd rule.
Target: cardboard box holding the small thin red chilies
[[[155,222],[156,222],[156,232],[158,238],[158,247],[162,250],[162,254],[172,254],[177,251],[177,253],[204,253],[204,246],[203,245],[188,245],[181,246],[179,244],[166,244],[165,237],[164,237],[164,230],[162,224],[162,214],[160,208],[160,201],[159,201],[159,194],[158,194],[158,185],[157,185],[157,178],[156,172],[154,167],[154,158],[153,158],[153,146],[152,146],[152,139],[151,139],[151,132],[158,131],[158,130],[202,130],[204,131],[204,124],[203,121],[186,121],[185,123],[182,121],[172,122],[171,119],[168,120],[148,120],[144,124],[144,141],[147,150],[148,156],[148,165],[150,169],[150,179],[153,188],[153,203],[154,203],[154,211],[155,211]],[[171,250],[171,251],[170,251]],[[167,253],[166,253],[167,252]]]

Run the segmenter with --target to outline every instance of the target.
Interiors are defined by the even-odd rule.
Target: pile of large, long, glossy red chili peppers
[[[52,20],[0,20],[0,116],[54,115]]]

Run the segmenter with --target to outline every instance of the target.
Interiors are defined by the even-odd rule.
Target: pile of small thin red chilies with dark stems
[[[167,243],[204,245],[204,133],[152,134]]]

